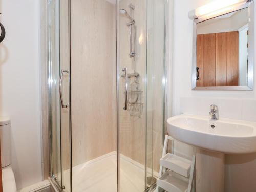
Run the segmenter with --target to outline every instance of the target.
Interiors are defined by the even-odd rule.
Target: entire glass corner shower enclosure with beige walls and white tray
[[[48,0],[50,176],[60,191],[154,188],[165,134],[165,4]]]

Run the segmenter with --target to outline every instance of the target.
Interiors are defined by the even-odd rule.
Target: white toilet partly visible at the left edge
[[[9,117],[0,117],[0,141],[3,192],[16,192],[16,182],[11,167],[11,121]]]

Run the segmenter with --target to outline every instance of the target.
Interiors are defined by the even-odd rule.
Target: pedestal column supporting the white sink
[[[225,154],[196,148],[196,191],[224,192]]]

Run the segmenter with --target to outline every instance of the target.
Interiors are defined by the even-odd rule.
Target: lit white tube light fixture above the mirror
[[[237,4],[247,3],[246,0],[216,0],[209,4],[203,5],[190,11],[188,17],[190,19],[196,19],[204,15],[215,15],[220,14],[221,12],[226,12],[229,9],[232,10],[233,6]]]

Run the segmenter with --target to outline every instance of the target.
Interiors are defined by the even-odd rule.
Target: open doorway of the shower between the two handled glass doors
[[[71,1],[71,77],[73,192],[116,192],[115,1]]]

